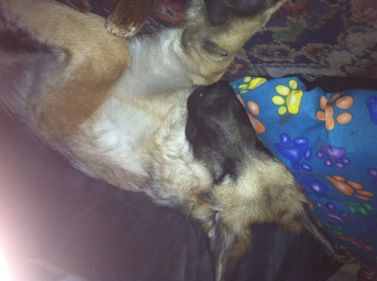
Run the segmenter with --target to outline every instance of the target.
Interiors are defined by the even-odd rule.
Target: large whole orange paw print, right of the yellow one
[[[348,109],[354,103],[354,99],[351,96],[344,96],[341,98],[339,97],[340,93],[336,93],[329,100],[327,100],[325,96],[322,96],[319,99],[319,106],[325,111],[318,110],[315,114],[315,117],[326,122],[327,130],[333,130],[335,127],[334,107],[332,105],[329,105],[329,103],[335,101],[335,106],[339,109]],[[340,113],[338,117],[336,117],[336,120],[339,124],[347,124],[351,122],[352,114],[349,112]]]

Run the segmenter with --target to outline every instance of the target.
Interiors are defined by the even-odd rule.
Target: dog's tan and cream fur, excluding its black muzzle
[[[280,162],[247,151],[238,180],[226,178],[214,186],[184,132],[193,86],[219,80],[236,51],[283,2],[212,28],[204,3],[195,0],[185,29],[164,30],[129,45],[107,33],[99,16],[50,0],[0,0],[7,25],[58,49],[35,93],[24,87],[2,93],[0,101],[73,166],[122,189],[142,191],[158,204],[179,206],[212,241],[222,235],[216,265],[222,281],[227,263],[252,243],[255,224],[278,222],[293,233],[307,228],[317,234],[305,221],[301,187]],[[203,46],[205,39],[215,51]],[[24,58],[15,59],[25,70]],[[11,65],[0,49],[0,68]]]

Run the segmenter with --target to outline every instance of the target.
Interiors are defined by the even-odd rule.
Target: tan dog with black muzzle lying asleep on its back
[[[200,222],[217,281],[231,279],[256,224],[308,230],[331,253],[301,186],[220,80],[283,3],[213,27],[194,0],[183,28],[128,42],[91,13],[0,0],[0,107],[77,169]]]

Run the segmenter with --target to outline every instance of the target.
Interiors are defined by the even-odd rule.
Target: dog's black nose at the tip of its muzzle
[[[203,107],[215,105],[218,101],[227,99],[233,94],[233,89],[226,81],[219,81],[199,89],[198,102]]]

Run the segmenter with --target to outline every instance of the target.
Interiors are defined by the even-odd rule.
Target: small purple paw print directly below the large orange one
[[[351,164],[351,161],[348,158],[345,158],[345,148],[324,145],[321,147],[321,150],[317,152],[318,159],[324,159],[325,166],[327,167],[337,167],[338,169],[344,169],[346,165]]]

